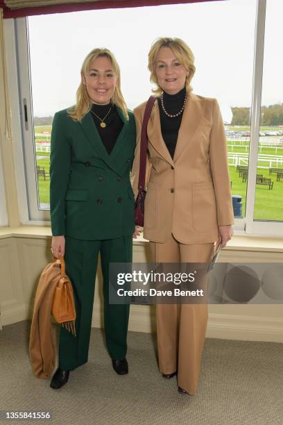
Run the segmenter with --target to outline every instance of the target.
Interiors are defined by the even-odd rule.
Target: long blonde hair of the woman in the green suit
[[[129,119],[128,108],[121,92],[120,68],[117,63],[117,60],[115,59],[113,53],[110,50],[98,48],[90,51],[85,60],[83,61],[83,66],[80,72],[82,75],[87,74],[87,72],[89,71],[89,65],[90,63],[92,63],[92,60],[95,60],[100,56],[105,56],[110,60],[114,74],[117,77],[114,94],[111,98],[111,103],[112,105],[118,106],[122,110],[123,115],[125,115],[125,118]],[[74,119],[74,121],[81,121],[81,119],[83,119],[83,117],[89,112],[91,108],[92,99],[90,99],[89,94],[87,93],[87,88],[83,84],[82,79],[76,92],[76,105],[71,106],[71,108],[69,108],[68,114],[72,119]]]

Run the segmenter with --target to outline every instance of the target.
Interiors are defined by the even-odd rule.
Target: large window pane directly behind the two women
[[[243,176],[239,167],[248,165],[247,111],[252,95],[255,6],[255,0],[231,0],[28,18],[41,208],[49,205],[52,117],[56,110],[74,104],[80,66],[87,53],[94,47],[108,47],[114,52],[121,66],[123,94],[132,109],[151,94],[147,70],[151,43],[161,35],[169,35],[185,40],[194,52],[194,92],[216,97],[220,103],[228,138],[232,193],[242,197],[244,215],[246,174]],[[118,24],[119,36],[115,29]]]

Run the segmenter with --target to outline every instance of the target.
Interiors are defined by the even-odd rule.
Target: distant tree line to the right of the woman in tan
[[[250,124],[250,108],[231,108],[232,126],[248,126]],[[261,106],[261,126],[283,125],[283,103]]]

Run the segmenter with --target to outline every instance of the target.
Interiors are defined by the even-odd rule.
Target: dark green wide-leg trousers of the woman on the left
[[[132,262],[132,235],[109,240],[77,240],[66,236],[65,264],[74,289],[76,336],[60,328],[61,369],[73,370],[87,362],[99,252],[103,273],[106,347],[110,357],[115,360],[122,360],[126,356],[130,306],[109,303],[109,263]]]

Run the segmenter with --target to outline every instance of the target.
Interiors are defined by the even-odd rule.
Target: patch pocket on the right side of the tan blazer
[[[194,230],[215,231],[217,228],[216,200],[212,183],[194,183],[192,197]]]

